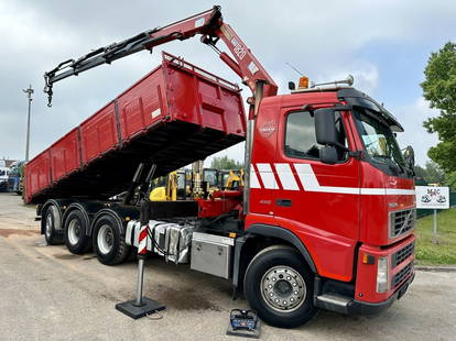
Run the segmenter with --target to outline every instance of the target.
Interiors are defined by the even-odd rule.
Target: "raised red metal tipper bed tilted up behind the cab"
[[[155,177],[246,138],[237,85],[163,53],[162,65],[25,167],[25,201],[106,199],[128,188],[141,162]]]

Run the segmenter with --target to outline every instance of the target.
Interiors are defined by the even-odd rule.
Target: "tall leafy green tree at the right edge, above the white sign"
[[[431,108],[441,110],[436,118],[423,125],[430,133],[437,133],[438,144],[427,155],[446,173],[456,172],[456,44],[448,42],[432,53],[421,84],[423,96]]]

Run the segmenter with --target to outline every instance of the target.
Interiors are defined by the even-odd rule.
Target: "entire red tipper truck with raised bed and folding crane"
[[[111,265],[149,224],[150,252],[230,279],[278,327],[303,324],[319,308],[389,307],[414,278],[413,153],[402,155],[401,124],[366,94],[337,81],[307,88],[303,78],[278,96],[215,7],[59,64],[45,74],[50,102],[55,81],[196,34],[252,90],[247,122],[237,86],[164,54],[162,66],[28,164],[25,200],[39,204],[47,243],[93,248]],[[243,140],[245,187],[146,199],[151,178]]]

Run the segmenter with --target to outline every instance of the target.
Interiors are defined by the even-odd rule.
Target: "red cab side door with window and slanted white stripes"
[[[304,239],[314,239],[310,248],[319,245],[335,257],[351,255],[345,260],[350,266],[352,253],[343,249],[354,246],[359,234],[359,161],[338,150],[337,163],[323,163],[314,113],[301,108],[281,111],[273,165],[278,180],[275,219]],[[349,116],[336,112],[338,139],[348,148],[355,145]]]

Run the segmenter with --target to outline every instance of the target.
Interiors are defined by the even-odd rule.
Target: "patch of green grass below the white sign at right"
[[[433,243],[433,215],[416,222],[419,265],[456,265],[456,208],[437,213],[437,238]]]

